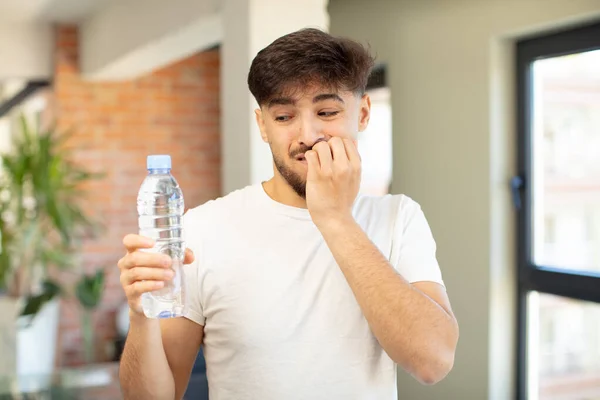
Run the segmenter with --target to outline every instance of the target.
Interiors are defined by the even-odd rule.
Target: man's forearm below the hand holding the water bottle
[[[119,380],[126,400],[175,398],[175,381],[156,319],[131,315]]]

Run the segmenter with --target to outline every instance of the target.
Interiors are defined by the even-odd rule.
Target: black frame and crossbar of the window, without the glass
[[[600,49],[600,21],[547,32],[516,43],[518,172],[511,182],[517,209],[516,394],[527,400],[527,294],[538,291],[600,303],[600,274],[534,265],[532,257],[532,64],[534,61]]]

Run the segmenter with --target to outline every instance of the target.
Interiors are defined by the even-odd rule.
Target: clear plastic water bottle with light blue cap
[[[167,254],[173,260],[174,276],[161,289],[142,295],[142,309],[148,318],[173,318],[183,315],[183,194],[171,175],[171,157],[151,155],[147,159],[148,175],[138,193],[139,234],[154,239],[152,249],[144,251]]]

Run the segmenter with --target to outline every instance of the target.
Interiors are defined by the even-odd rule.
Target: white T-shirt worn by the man
[[[408,281],[443,285],[421,208],[359,196],[354,217]],[[189,308],[204,325],[211,400],[392,400],[396,365],[372,334],[308,210],[252,185],[188,211]]]

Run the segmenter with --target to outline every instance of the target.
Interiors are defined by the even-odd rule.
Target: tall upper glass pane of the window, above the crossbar
[[[533,262],[600,271],[600,50],[533,64]]]

